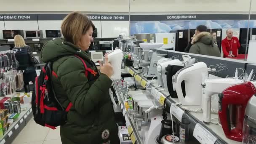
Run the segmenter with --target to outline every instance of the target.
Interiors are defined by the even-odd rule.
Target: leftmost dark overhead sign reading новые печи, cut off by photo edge
[[[4,21],[37,21],[37,14],[4,14],[0,15]]]

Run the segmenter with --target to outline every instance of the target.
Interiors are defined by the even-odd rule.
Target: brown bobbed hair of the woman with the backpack
[[[90,27],[95,29],[94,24],[86,15],[72,12],[63,19],[61,32],[67,42],[77,45],[82,35],[85,35]]]

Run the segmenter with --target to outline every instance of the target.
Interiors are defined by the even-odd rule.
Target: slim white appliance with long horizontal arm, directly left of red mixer
[[[233,78],[221,78],[221,79],[207,79],[203,86],[203,122],[211,122],[211,97],[215,94],[219,94],[224,89],[231,85],[238,83],[243,83],[243,80],[233,79]]]

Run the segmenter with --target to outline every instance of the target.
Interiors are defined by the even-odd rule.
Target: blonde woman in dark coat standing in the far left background
[[[35,67],[30,60],[29,52],[31,52],[31,48],[25,44],[25,41],[21,35],[16,35],[14,37],[15,47],[13,50],[16,50],[16,59],[19,61],[19,67],[17,70],[24,70],[23,80],[24,80],[24,91],[25,93],[29,93],[29,82],[35,81],[35,77],[37,73],[35,71]]]

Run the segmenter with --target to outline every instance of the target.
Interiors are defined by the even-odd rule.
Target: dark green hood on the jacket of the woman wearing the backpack
[[[81,50],[77,45],[66,42],[63,38],[48,41],[41,51],[41,59],[45,63],[67,55],[77,55],[84,59],[91,59],[86,51]]]

